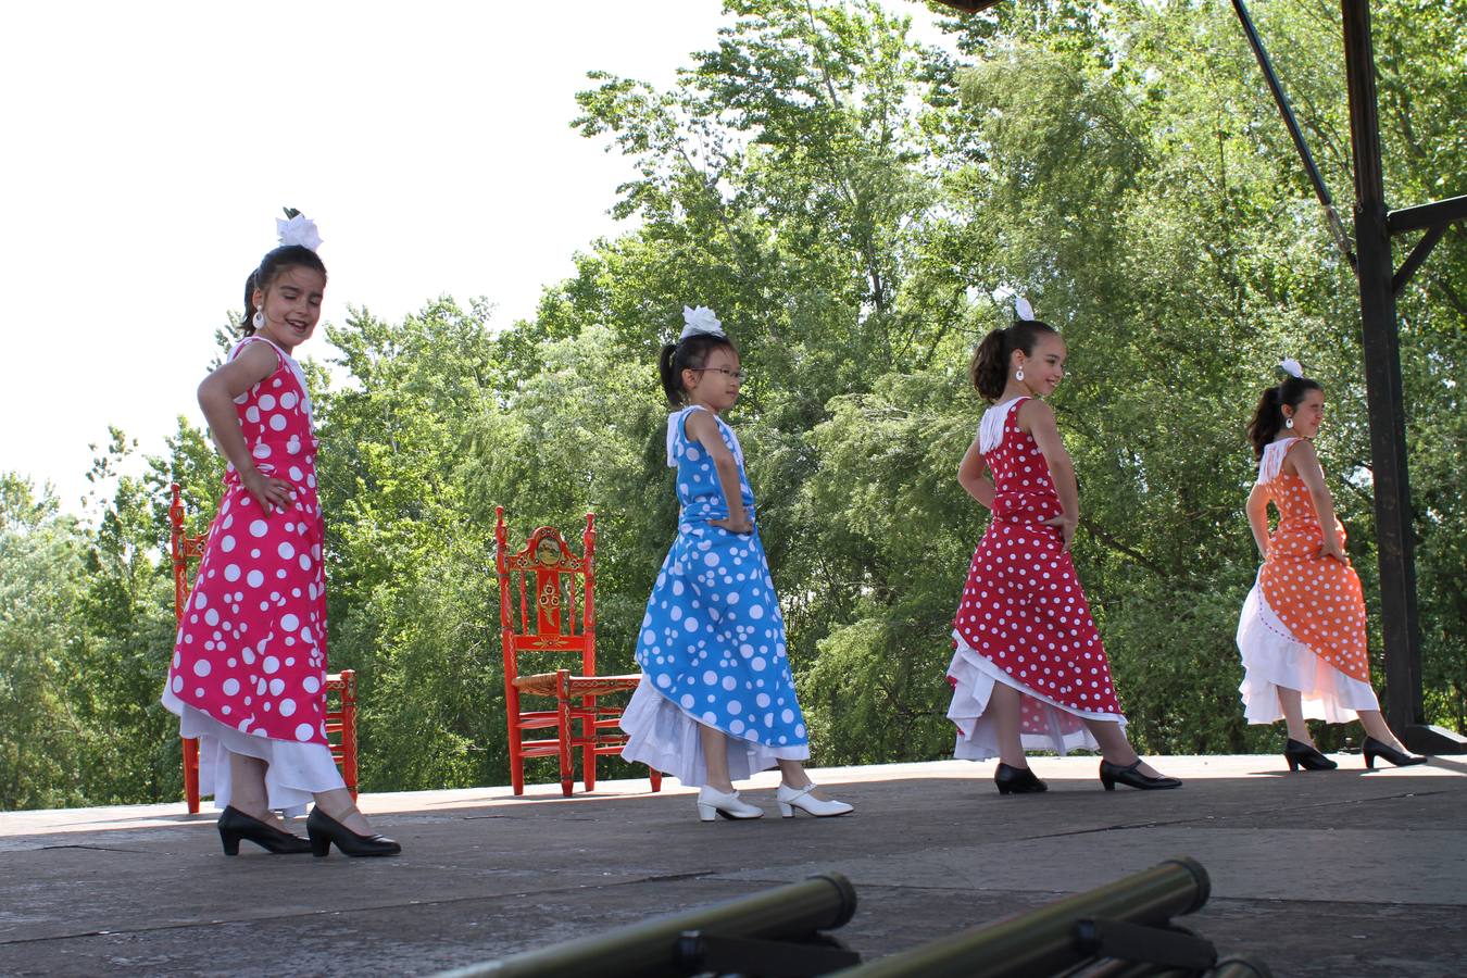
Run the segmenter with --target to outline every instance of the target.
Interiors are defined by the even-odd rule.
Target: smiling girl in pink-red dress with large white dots
[[[315,330],[326,265],[315,224],[279,221],[280,248],[245,283],[246,334],[198,387],[229,459],[224,496],[188,597],[163,689],[200,740],[200,784],[223,809],[226,855],[390,855],[371,833],[326,740],[326,578],[311,399],[290,352]],[[252,309],[252,312],[251,312]],[[299,814],[310,842],[273,811]]]

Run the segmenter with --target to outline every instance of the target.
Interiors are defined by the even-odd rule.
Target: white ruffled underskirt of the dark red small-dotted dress
[[[954,680],[948,718],[958,727],[958,742],[952,749],[952,757],[962,761],[987,761],[999,755],[998,730],[995,730],[993,718],[987,713],[993,683],[1003,683],[1020,691],[1039,704],[1043,711],[1045,721],[1049,724],[1047,730],[1043,733],[1020,732],[1020,743],[1025,751],[1053,751],[1059,757],[1065,757],[1071,751],[1100,749],[1094,736],[1084,726],[1078,730],[1064,730],[1062,714],[1080,720],[1100,720],[1125,726],[1125,717],[1118,713],[1090,713],[1055,702],[990,663],[968,645],[961,632],[954,630],[952,638],[958,644],[952,664],[948,667],[948,677]]]

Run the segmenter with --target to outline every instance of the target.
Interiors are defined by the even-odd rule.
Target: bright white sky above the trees
[[[109,424],[154,455],[202,425],[213,333],[286,205],[324,239],[323,323],[445,293],[531,315],[623,229],[631,167],[569,128],[585,72],[666,87],[720,22],[719,0],[4,4],[0,471],[79,512]]]

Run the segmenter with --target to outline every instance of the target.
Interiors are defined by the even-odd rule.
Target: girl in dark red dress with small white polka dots
[[[984,412],[958,482],[993,510],[993,521],[954,620],[954,755],[996,755],[1000,795],[1046,790],[1025,749],[1099,749],[1106,790],[1118,783],[1178,787],[1125,738],[1111,664],[1069,557],[1080,518],[1074,465],[1055,412],[1037,400],[1064,378],[1065,342],[1033,318],[1027,302],[1018,306],[1018,321],[989,333],[968,371],[978,393],[998,403]]]

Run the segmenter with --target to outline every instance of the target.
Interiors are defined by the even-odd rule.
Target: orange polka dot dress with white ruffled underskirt
[[[1259,485],[1278,509],[1269,551],[1238,620],[1248,723],[1282,717],[1278,689],[1301,694],[1304,716],[1345,723],[1379,710],[1366,652],[1366,603],[1350,563],[1320,557],[1325,531],[1309,487],[1284,462],[1301,438],[1265,447]],[[1335,523],[1339,541],[1345,529]]]

